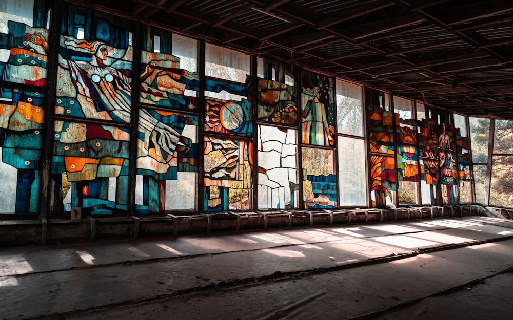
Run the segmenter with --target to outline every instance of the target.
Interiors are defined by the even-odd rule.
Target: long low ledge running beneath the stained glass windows
[[[461,216],[513,218],[513,208],[478,204],[402,206],[397,208],[333,208],[315,210],[228,211],[203,214],[0,221],[0,245],[94,241],[98,238],[173,236],[268,228],[293,228]],[[13,217],[14,218],[14,217]]]

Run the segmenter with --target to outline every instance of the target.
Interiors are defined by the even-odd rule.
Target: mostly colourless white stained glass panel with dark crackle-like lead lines
[[[297,208],[297,132],[267,125],[259,125],[258,129],[259,208]]]

